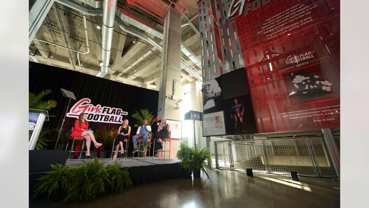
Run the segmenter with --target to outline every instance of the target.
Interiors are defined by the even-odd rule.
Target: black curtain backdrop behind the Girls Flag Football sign
[[[127,111],[128,115],[123,115],[123,120],[128,119],[129,121],[131,140],[137,131],[137,128],[134,127],[137,120],[132,118],[135,110],[139,111],[147,108],[155,117],[157,116],[158,91],[44,64],[30,62],[30,65],[32,66],[29,69],[29,92],[38,94],[42,90],[51,89],[52,93],[46,95],[43,100],[54,99],[58,102],[58,105],[49,111],[49,115],[55,115],[55,117],[50,117],[49,121],[44,123],[44,127],[50,129],[60,128],[62,124],[69,98],[62,95],[60,88],[72,91],[75,94],[76,100],[70,101],[68,111],[82,98],[90,98],[91,104],[94,106],[100,104],[101,106],[121,108],[123,111]],[[75,121],[76,118],[66,117],[63,132],[68,132]],[[104,127],[106,129],[113,127],[117,129],[120,125],[89,121],[89,128],[101,132],[104,131]]]

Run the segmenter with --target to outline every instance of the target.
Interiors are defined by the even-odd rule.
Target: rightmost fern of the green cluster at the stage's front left
[[[121,169],[121,164],[117,161],[114,164],[109,164],[106,167],[106,171],[109,175],[109,181],[105,183],[106,191],[120,192],[131,188],[133,183],[130,178],[130,174],[127,169]]]

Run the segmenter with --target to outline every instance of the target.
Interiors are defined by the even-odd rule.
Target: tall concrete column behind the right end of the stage
[[[170,8],[164,19],[162,64],[159,77],[158,116],[171,120],[180,120],[180,111],[176,109],[178,100],[166,98],[172,95],[173,80],[181,78],[181,15]],[[177,84],[179,85],[179,84]],[[176,88],[176,95],[180,97],[180,87]],[[170,158],[176,158],[180,140],[172,140]]]

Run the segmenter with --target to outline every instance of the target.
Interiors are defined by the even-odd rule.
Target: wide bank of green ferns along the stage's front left
[[[104,162],[94,158],[77,168],[68,165],[52,165],[54,171],[40,177],[34,197],[47,192],[49,197],[61,190],[63,201],[91,201],[106,192],[123,191],[132,187],[127,169],[121,169],[117,161],[104,167]]]

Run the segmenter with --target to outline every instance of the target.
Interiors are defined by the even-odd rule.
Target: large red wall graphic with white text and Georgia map
[[[339,127],[339,1],[252,2],[232,23],[258,133]]]

